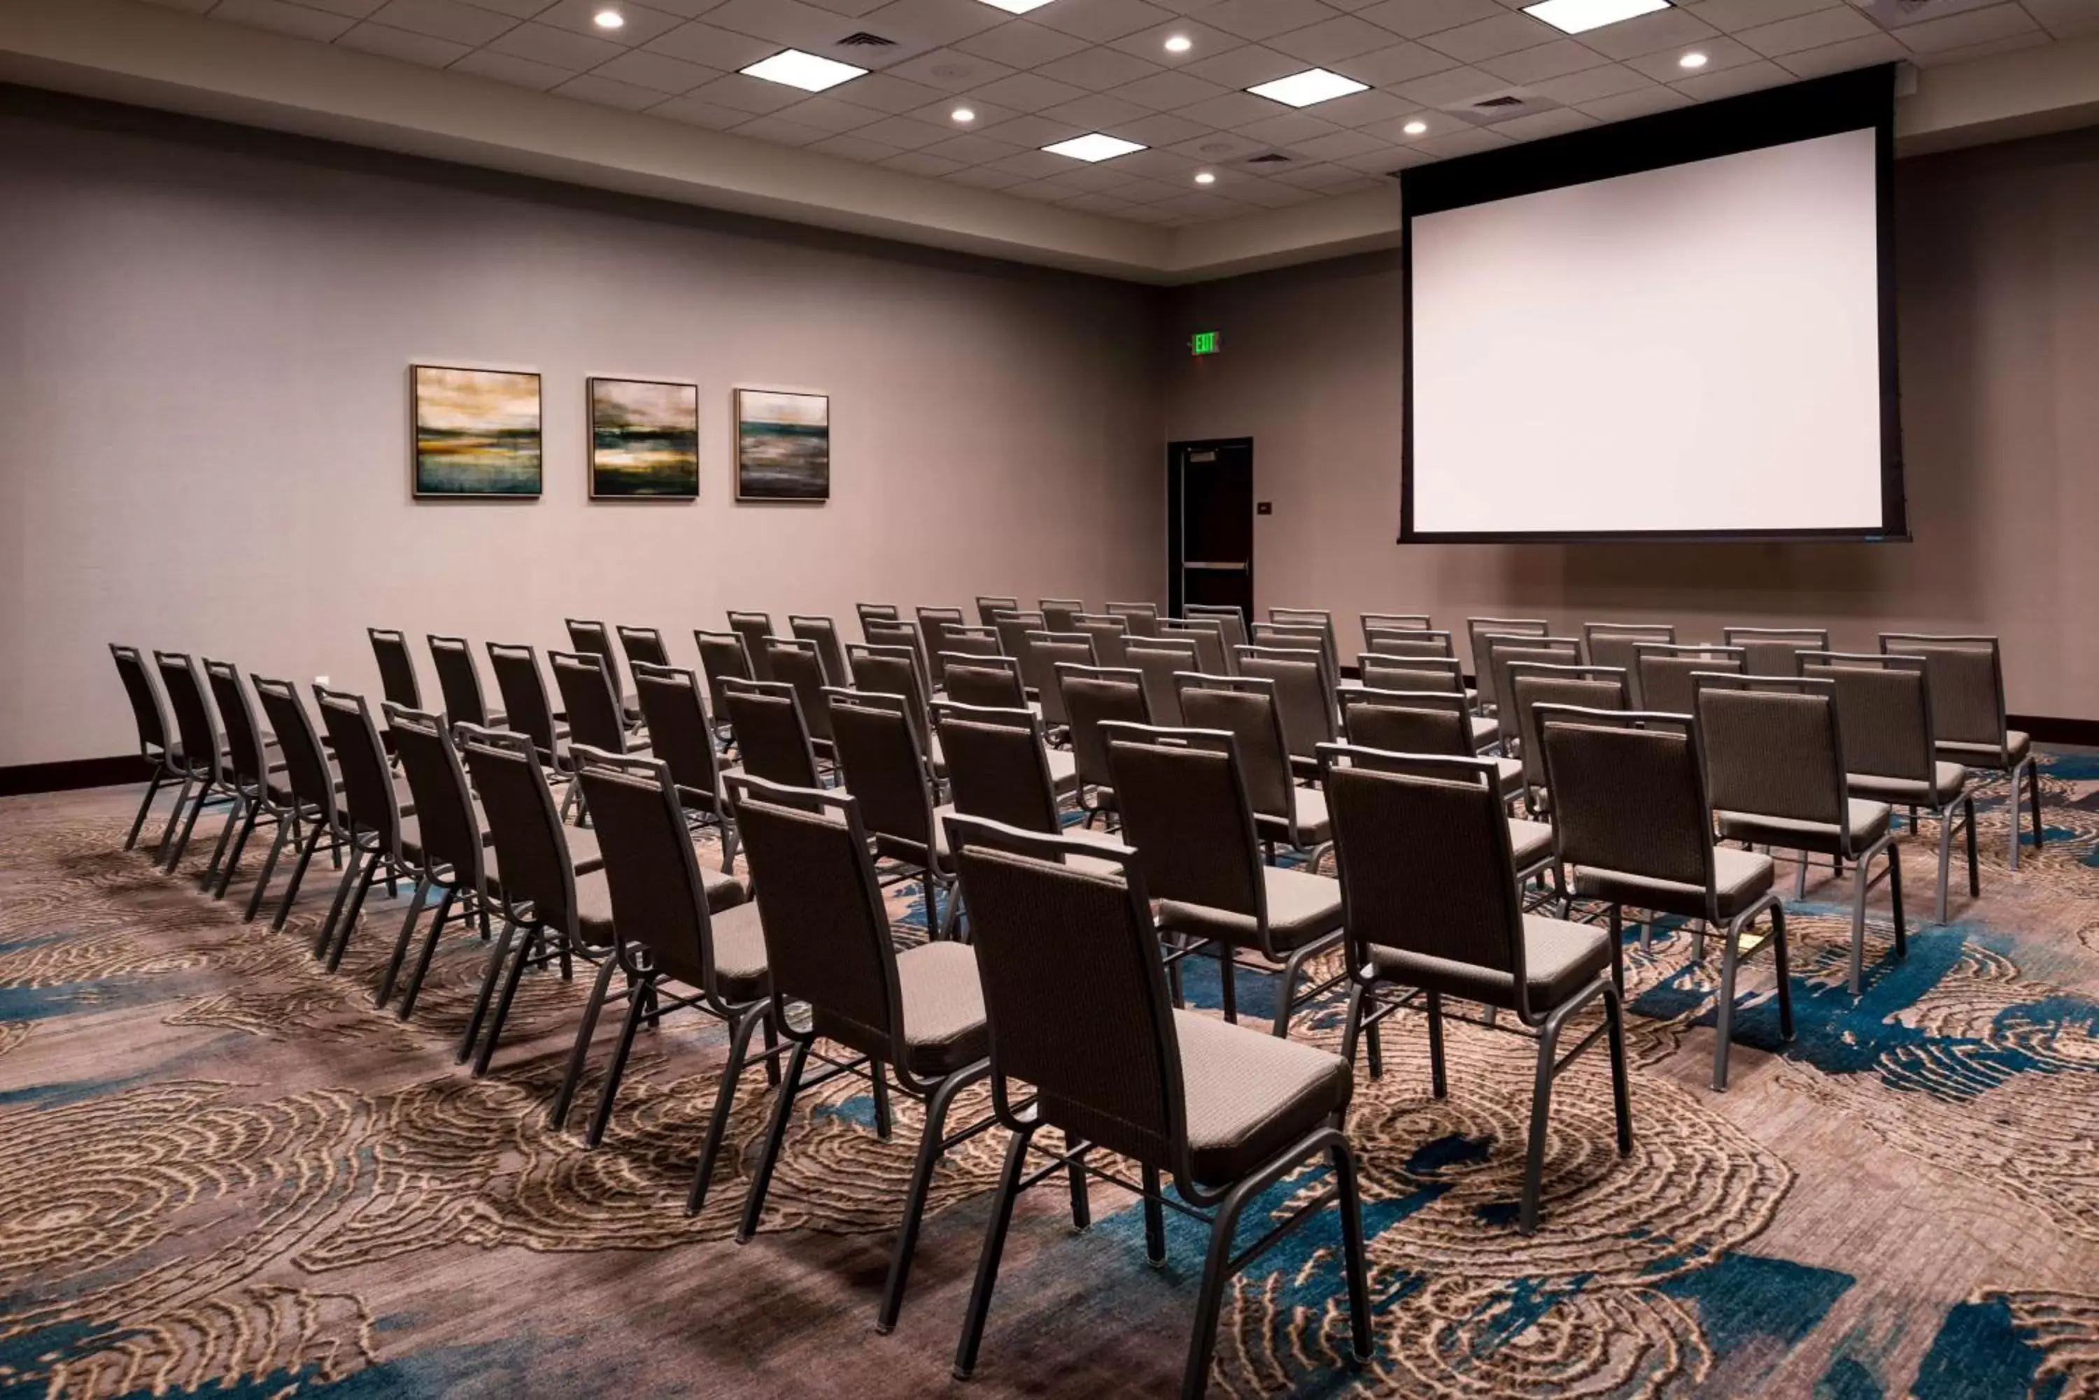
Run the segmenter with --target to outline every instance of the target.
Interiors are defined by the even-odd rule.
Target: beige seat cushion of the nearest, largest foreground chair
[[[1236,1182],[1348,1106],[1337,1054],[1194,1012],[1173,1012],[1173,1035],[1199,1182]]]

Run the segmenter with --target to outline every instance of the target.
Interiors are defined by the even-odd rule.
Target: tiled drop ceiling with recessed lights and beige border
[[[869,71],[739,71],[783,48]],[[1503,0],[0,4],[17,82],[1154,281],[1390,243],[1408,166],[1895,59],[1918,149],[2099,120],[2099,0],[1688,0],[1581,36]],[[1366,86],[1247,92],[1308,67]],[[1146,149],[1041,149],[1089,132]]]

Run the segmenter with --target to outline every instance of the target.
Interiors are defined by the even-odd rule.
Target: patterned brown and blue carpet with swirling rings
[[[1845,993],[1845,884],[1797,907],[1799,1039],[1769,963],[1706,1087],[1711,980],[1688,934],[1629,955],[1635,1150],[1610,1146],[1602,1056],[1555,1094],[1545,1222],[1515,1232],[1524,1041],[1450,1033],[1427,1091],[1419,1018],[1358,1077],[1377,1356],[1345,1352],[1329,1213],[1226,1301],[1217,1396],[2099,1396],[2099,760],[2055,754],[2049,846],[2005,867],[1984,789],[1984,894]],[[136,793],[0,802],[0,1394],[997,1396],[1178,1383],[1201,1236],[1100,1186],[1075,1236],[1022,1199],[970,1383],[949,1377],[999,1133],[940,1169],[894,1335],[873,1331],[917,1117],[810,1096],[760,1236],[730,1240],[768,1096],[707,1211],[682,1209],[724,1035],[646,1033],[602,1148],[552,1133],[584,982],[535,972],[487,1079],[451,1062],[483,945],[451,938],[409,1024],[369,1005],[403,913],[367,907],[340,976],[195,875],[118,850]],[[149,825],[149,833],[157,825]],[[1904,840],[1929,911],[1935,833]],[[254,861],[250,861],[250,867]],[[1958,890],[1960,886],[1956,886]],[[898,928],[919,932],[905,888]],[[1631,938],[1631,932],[1629,932]],[[1266,1014],[1266,984],[1243,1003]],[[1199,995],[1211,987],[1194,987]],[[594,1064],[617,1031],[600,1024]],[[1308,1039],[1337,1043],[1339,1007]],[[584,1106],[594,1100],[586,1083]],[[974,1102],[961,1106],[966,1112]],[[974,1117],[974,1115],[972,1115]],[[581,1112],[577,1115],[577,1121]],[[728,1173],[735,1173],[735,1180]],[[1306,1184],[1285,1184],[1276,1209]]]

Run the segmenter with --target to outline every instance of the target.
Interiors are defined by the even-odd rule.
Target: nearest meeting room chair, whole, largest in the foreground
[[[1066,858],[1089,854],[1083,844],[961,816],[951,827],[978,926],[993,1115],[1012,1133],[955,1375],[976,1369],[1014,1199],[1058,1165],[1070,1173],[1075,1224],[1083,1224],[1081,1171],[1142,1194],[1144,1253],[1154,1266],[1167,1259],[1165,1209],[1209,1226],[1182,1396],[1201,1396],[1209,1383],[1230,1280],[1329,1205],[1339,1209],[1350,1354],[1366,1362],[1375,1343],[1358,1173],[1343,1131],[1348,1064],[1324,1049],[1175,1012],[1136,852],[1108,852],[1112,873],[1075,869]],[[1075,1005],[1087,1007],[1079,1020],[1066,1010]],[[1010,1081],[1029,1085],[1029,1096]],[[1220,1131],[1226,1123],[1234,1127]],[[1041,1127],[1058,1129],[1064,1150],[1024,1175],[1029,1148],[1047,1150],[1035,1142]],[[1087,1163],[1094,1148],[1133,1161],[1140,1182]],[[1238,1251],[1247,1207],[1320,1157],[1333,1184],[1299,1188],[1289,1215]],[[1161,1190],[1167,1171],[1175,1196]],[[1205,1209],[1213,1213],[1205,1217]]]

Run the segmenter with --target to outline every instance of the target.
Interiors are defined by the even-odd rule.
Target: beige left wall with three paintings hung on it
[[[15,90],[0,764],[132,747],[111,640],[376,693],[367,625],[552,646],[602,617],[695,659],[730,607],[1152,596],[1157,306]],[[411,361],[542,372],[539,502],[409,500]],[[701,386],[697,504],[586,500],[592,374]],[[829,506],[733,502],[733,384],[831,395]]]

